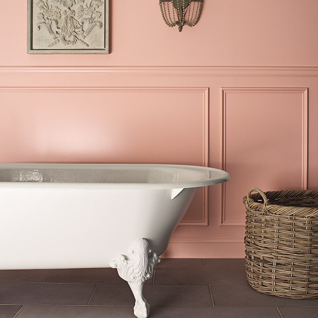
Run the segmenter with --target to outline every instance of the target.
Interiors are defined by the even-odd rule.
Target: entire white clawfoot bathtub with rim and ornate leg
[[[117,268],[147,318],[143,284],[196,188],[229,179],[189,165],[0,164],[0,269]]]

